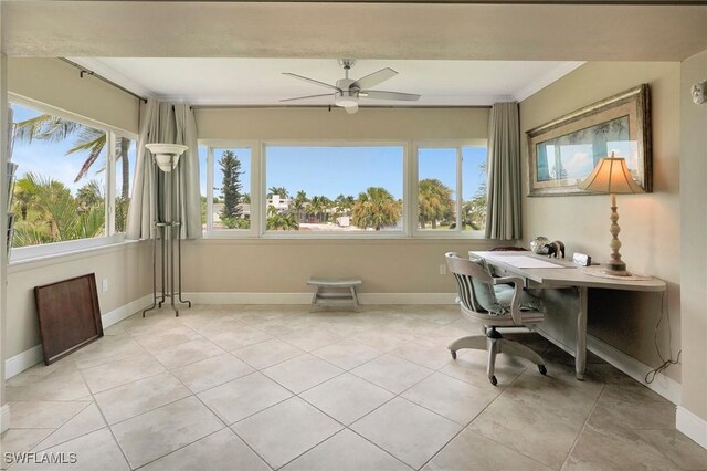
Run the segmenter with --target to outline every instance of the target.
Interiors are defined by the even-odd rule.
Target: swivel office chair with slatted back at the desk
[[[462,315],[469,320],[479,320],[484,325],[484,335],[469,335],[457,338],[449,345],[452,358],[462,348],[488,350],[487,375],[492,385],[498,381],[495,376],[496,355],[505,353],[529,359],[538,365],[540,374],[547,374],[545,362],[530,347],[504,338],[498,327],[528,327],[542,322],[540,300],[523,290],[523,280],[505,276],[494,278],[486,260],[462,259],[455,252],[444,254],[446,264],[456,280]]]

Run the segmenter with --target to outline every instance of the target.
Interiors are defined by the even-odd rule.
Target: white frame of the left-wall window
[[[84,126],[93,127],[95,129],[99,129],[106,133],[106,169],[105,169],[105,236],[95,237],[95,238],[86,238],[86,239],[75,239],[68,241],[61,242],[51,242],[43,243],[39,245],[27,245],[27,247],[18,247],[12,248],[8,255],[8,261],[10,264],[17,262],[23,262],[33,259],[42,259],[52,255],[63,255],[72,252],[80,252],[87,249],[101,248],[106,245],[112,245],[115,243],[120,243],[125,241],[125,232],[115,232],[115,164],[116,164],[116,153],[115,153],[115,143],[117,137],[126,137],[130,140],[136,142],[138,135],[136,133],[130,133],[125,129],[117,128],[115,126],[107,125],[105,123],[101,123],[98,121],[89,119],[78,114],[67,112],[65,109],[48,105],[45,103],[39,102],[36,100],[28,98],[22,95],[18,95],[15,93],[8,92],[8,106],[12,104],[17,104],[19,106],[29,107],[35,109],[40,113],[51,114],[56,117],[61,117],[64,119],[71,119],[75,123],[82,124]],[[15,161],[15,160],[13,160]],[[15,161],[17,163],[17,161]],[[21,163],[18,163],[21,165]]]

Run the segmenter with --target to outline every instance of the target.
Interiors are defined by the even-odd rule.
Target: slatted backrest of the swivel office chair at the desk
[[[456,293],[462,305],[478,314],[487,313],[486,306],[497,304],[493,276],[482,263],[462,259],[456,252],[444,254],[446,265],[456,281]]]

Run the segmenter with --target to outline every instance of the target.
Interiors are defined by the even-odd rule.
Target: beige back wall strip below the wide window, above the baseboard
[[[305,293],[309,276],[356,275],[362,293],[453,293],[452,276],[440,274],[444,252],[489,247],[483,240],[189,241],[184,291]]]

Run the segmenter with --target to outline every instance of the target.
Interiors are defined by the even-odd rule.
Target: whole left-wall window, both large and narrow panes
[[[124,232],[134,140],[64,114],[14,102],[11,108],[12,247]]]

